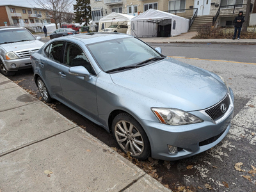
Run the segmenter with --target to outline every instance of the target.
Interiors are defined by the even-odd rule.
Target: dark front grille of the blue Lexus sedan
[[[224,113],[221,111],[221,105],[222,104],[225,104],[227,106],[227,109]],[[221,100],[221,102],[216,104],[216,106],[213,106],[212,108],[207,109],[205,111],[205,113],[207,113],[209,116],[211,116],[211,118],[213,120],[216,120],[217,118],[220,118],[221,116],[223,116],[227,112],[229,106],[230,106],[230,98],[229,98],[228,95],[226,95],[225,99]]]

